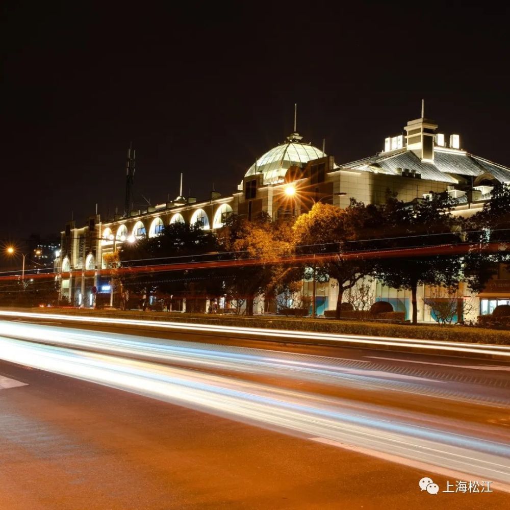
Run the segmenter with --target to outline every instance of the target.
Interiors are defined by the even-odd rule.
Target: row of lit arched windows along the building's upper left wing
[[[227,203],[223,203],[217,209],[216,214],[214,215],[213,228],[221,228],[225,224],[228,216],[232,214],[232,212],[233,212],[232,207]],[[190,223],[194,225],[197,222],[204,230],[209,230],[211,228],[209,217],[206,211],[204,211],[203,209],[197,209],[193,213],[193,216],[191,216]],[[183,215],[180,213],[174,214],[170,218],[169,224],[171,225],[173,223],[184,223]],[[163,223],[163,220],[160,217],[155,218],[150,224],[148,233],[149,237],[156,237],[160,235],[163,232],[164,228],[165,225]],[[119,228],[117,229],[116,235],[113,234],[111,228],[105,228],[105,231],[103,232],[103,244],[113,242],[114,240],[124,242],[131,236],[133,236],[135,239],[138,239],[145,237],[146,234],[147,232],[145,229],[145,225],[143,224],[142,221],[137,221],[135,223],[131,233],[127,230],[126,225],[120,225]]]

